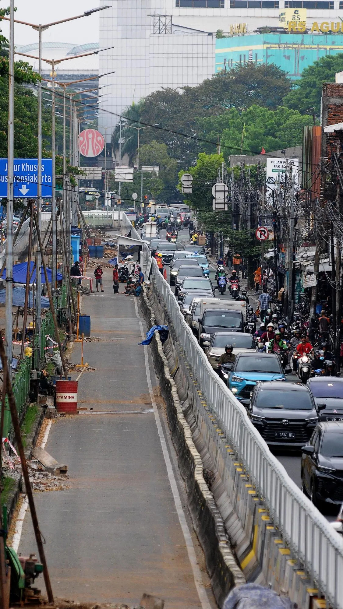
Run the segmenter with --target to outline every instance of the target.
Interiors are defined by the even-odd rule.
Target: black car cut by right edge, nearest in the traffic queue
[[[302,448],[302,490],[317,507],[343,501],[343,423],[320,422]]]

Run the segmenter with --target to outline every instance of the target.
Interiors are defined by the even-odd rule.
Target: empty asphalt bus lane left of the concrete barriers
[[[85,343],[96,370],[79,381],[79,406],[99,414],[54,421],[46,450],[68,464],[70,488],[35,493],[52,589],[79,602],[138,605],[145,592],[165,609],[211,609],[150,349],[138,346],[146,333],[139,301],[114,295],[111,275],[104,269],[104,294],[82,299],[98,340]],[[77,344],[72,360],[80,361]],[[35,551],[27,512],[19,552]],[[42,577],[37,583],[43,588]]]

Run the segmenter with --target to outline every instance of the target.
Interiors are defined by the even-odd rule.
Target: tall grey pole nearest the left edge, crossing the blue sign
[[[13,297],[13,196],[14,196],[14,0],[10,0],[9,40],[9,146],[7,159],[7,239],[6,239],[6,356],[12,378],[12,297]]]

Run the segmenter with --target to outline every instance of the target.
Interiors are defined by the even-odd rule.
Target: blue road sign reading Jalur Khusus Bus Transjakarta
[[[17,199],[37,197],[37,158],[15,158],[14,195]],[[52,159],[41,161],[41,195],[52,196]],[[0,158],[0,197],[7,197],[7,158]]]

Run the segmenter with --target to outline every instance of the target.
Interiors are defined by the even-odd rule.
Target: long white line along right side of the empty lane
[[[135,303],[136,317],[138,319],[138,323],[140,324],[142,340],[144,340],[145,336],[144,336],[144,331],[143,331],[143,325],[142,325],[142,322],[140,319],[140,315],[138,314],[138,306],[137,306],[137,301],[136,301],[135,297],[133,297],[133,302]],[[166,439],[164,438],[163,429],[162,429],[162,425],[161,425],[160,415],[158,414],[157,404],[155,401],[154,392],[152,390],[149,361],[147,359],[147,345],[144,345],[144,361],[145,361],[145,367],[146,367],[146,380],[147,380],[147,386],[149,387],[150,400],[152,403],[152,407],[154,409],[157,431],[158,431],[158,435],[160,437],[161,448],[162,448],[162,452],[163,452],[164,462],[166,463],[169,484],[171,485],[172,495],[174,497],[175,508],[177,511],[177,515],[179,516],[179,522],[180,522],[180,526],[182,529],[183,538],[185,539],[189,562],[191,563],[191,568],[193,571],[194,583],[196,585],[196,589],[197,589],[197,593],[199,596],[199,600],[200,600],[202,609],[211,609],[211,605],[208,600],[207,593],[205,591],[205,588],[203,587],[202,577],[201,577],[199,565],[197,563],[196,552],[194,550],[194,545],[193,545],[193,541],[191,538],[191,532],[189,531],[185,512],[183,512],[183,509],[182,509],[182,502],[181,502],[181,498],[180,498],[180,494],[179,494],[179,489],[177,488],[174,471],[172,471],[171,459],[169,457],[167,443],[166,443]]]

